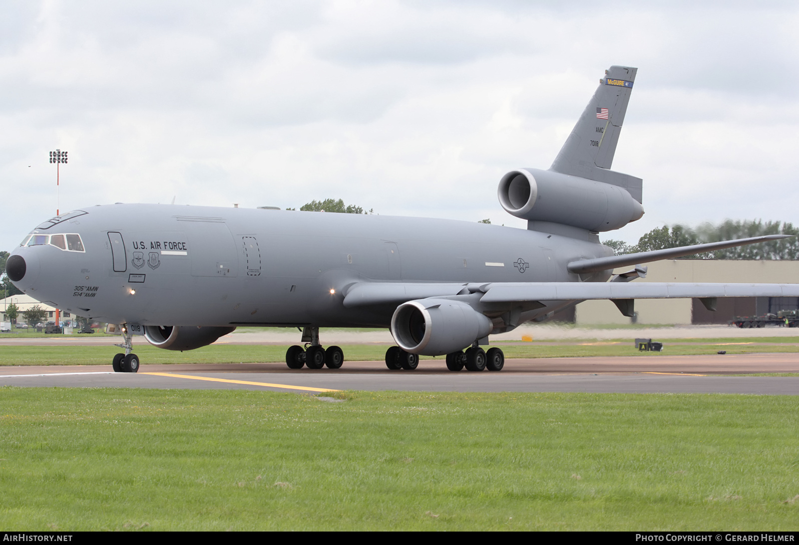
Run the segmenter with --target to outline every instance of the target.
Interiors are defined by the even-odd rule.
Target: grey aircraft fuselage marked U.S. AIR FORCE
[[[387,327],[396,305],[347,308],[348,285],[577,282],[566,263],[609,255],[598,241],[447,219],[153,204],[83,210],[32,234],[78,234],[84,251],[18,247],[28,272],[16,283],[110,323]]]

